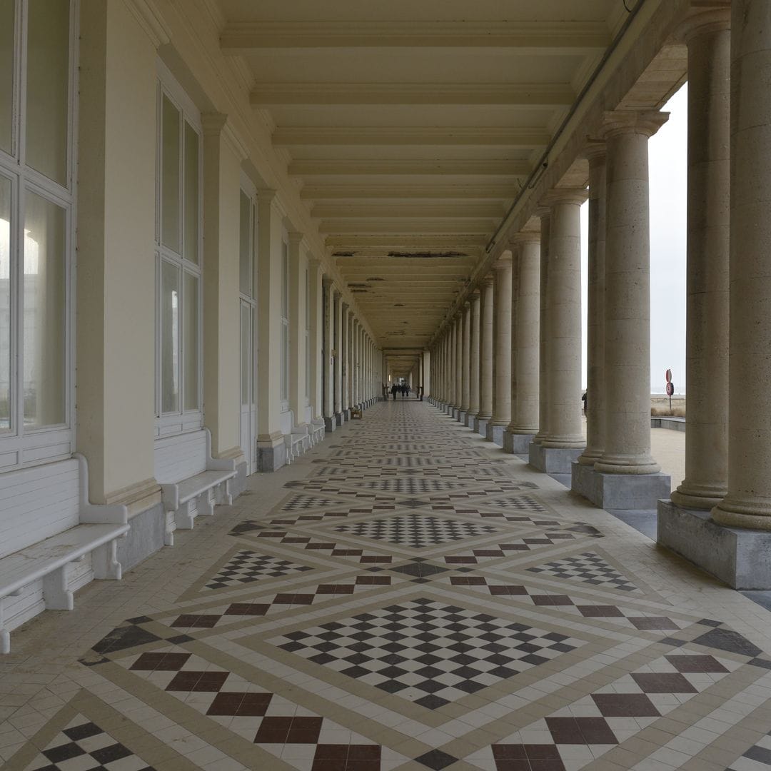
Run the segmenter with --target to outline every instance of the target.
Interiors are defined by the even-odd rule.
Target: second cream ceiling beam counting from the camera
[[[258,83],[253,107],[289,105],[504,105],[567,108],[568,83]]]

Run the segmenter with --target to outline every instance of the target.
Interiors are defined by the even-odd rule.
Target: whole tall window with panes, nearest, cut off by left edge
[[[0,466],[72,451],[75,10],[0,0]]]

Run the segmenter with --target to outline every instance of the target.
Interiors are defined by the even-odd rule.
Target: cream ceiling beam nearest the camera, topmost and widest
[[[370,21],[231,22],[220,46],[229,55],[298,48],[505,48],[530,55],[584,54],[611,42],[603,22]]]

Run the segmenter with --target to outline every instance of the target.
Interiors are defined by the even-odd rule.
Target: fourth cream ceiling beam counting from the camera
[[[527,160],[293,160],[289,173],[295,177],[317,177],[328,174],[341,175],[473,175],[474,177],[526,177],[531,166]]]

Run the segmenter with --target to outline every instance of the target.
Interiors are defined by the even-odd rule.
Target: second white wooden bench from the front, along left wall
[[[230,480],[236,462],[211,456],[209,429],[155,440],[155,478],[167,513],[163,542],[174,544],[174,530],[191,530],[198,514],[211,516],[214,504],[230,506]]]

